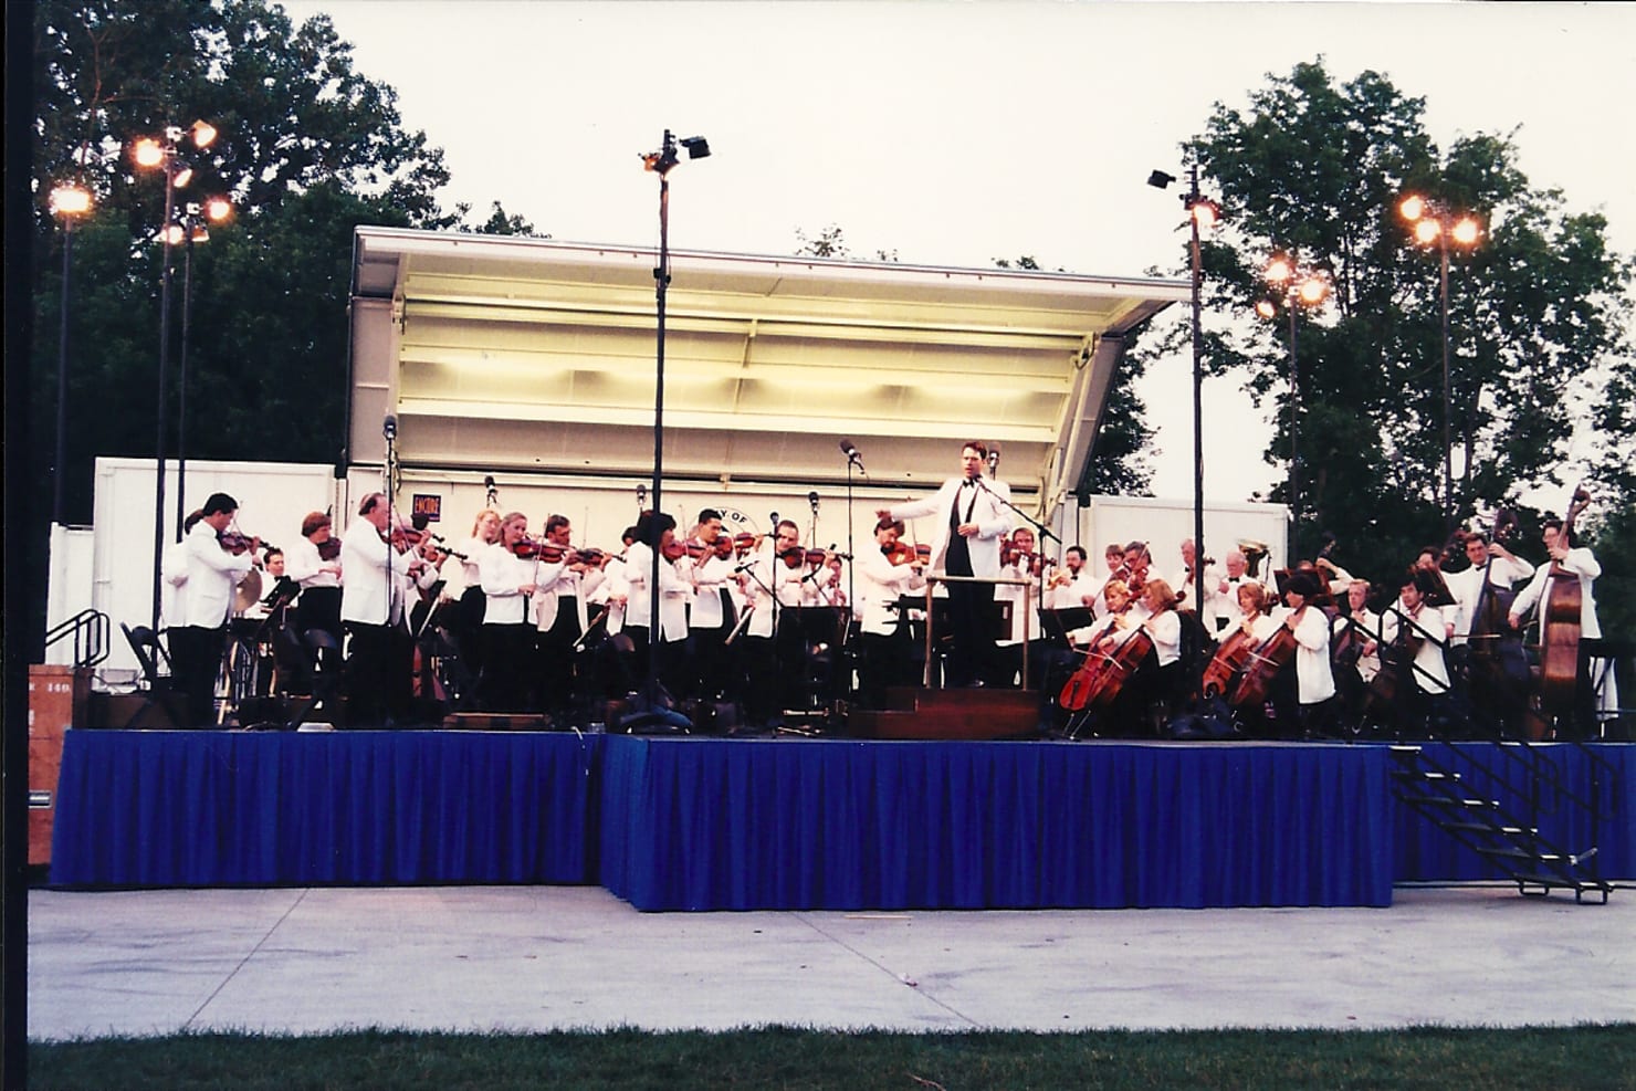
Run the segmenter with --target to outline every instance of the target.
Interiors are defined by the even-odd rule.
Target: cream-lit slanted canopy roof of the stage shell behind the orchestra
[[[653,249],[358,227],[355,463],[643,476]],[[998,445],[1040,499],[1080,479],[1122,337],[1176,280],[671,254],[664,478],[921,487]]]

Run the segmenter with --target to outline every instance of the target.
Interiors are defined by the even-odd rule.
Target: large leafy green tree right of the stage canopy
[[[1531,188],[1508,137],[1466,136],[1441,152],[1423,110],[1376,72],[1337,85],[1319,61],[1273,77],[1247,110],[1217,103],[1188,146],[1225,213],[1202,254],[1206,361],[1276,409],[1271,463],[1288,458],[1297,425],[1304,551],[1330,530],[1392,568],[1443,540],[1445,501],[1464,520],[1561,474],[1582,424],[1575,393],[1607,404],[1628,383],[1602,366],[1625,348],[1633,268],[1608,249],[1605,221]],[[1451,254],[1448,499],[1438,255],[1397,211],[1410,191],[1487,219],[1481,245]],[[1333,281],[1327,312],[1299,319],[1294,399],[1284,321],[1250,317],[1274,252]],[[1628,411],[1603,409],[1595,424],[1628,450]]]

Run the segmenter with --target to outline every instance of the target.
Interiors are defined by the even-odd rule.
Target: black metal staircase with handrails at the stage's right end
[[[1512,772],[1520,774],[1523,790],[1459,749],[1448,752],[1466,769],[1453,769],[1423,746],[1397,744],[1391,748],[1394,793],[1503,872],[1520,895],[1543,898],[1553,890],[1572,890],[1580,905],[1587,895],[1600,895],[1600,903],[1590,905],[1607,905],[1613,883],[1602,878],[1597,846],[1571,852],[1539,833],[1541,813],[1559,813],[1564,806],[1577,808],[1595,831],[1603,818],[1602,798],[1618,798],[1611,783],[1616,770],[1589,748],[1580,749],[1592,761],[1589,798],[1567,785],[1561,769],[1539,748],[1515,739],[1484,751],[1518,762]]]

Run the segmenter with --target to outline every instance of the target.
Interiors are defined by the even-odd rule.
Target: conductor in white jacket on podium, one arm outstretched
[[[1005,481],[983,481],[985,458],[988,447],[972,440],[960,448],[960,476],[944,481],[934,496],[875,512],[893,520],[939,515],[933,568],[949,576],[1000,574],[1000,538],[1011,530],[1011,487]],[[995,646],[995,586],[957,581],[947,584],[947,592],[952,649],[946,682],[982,685]]]

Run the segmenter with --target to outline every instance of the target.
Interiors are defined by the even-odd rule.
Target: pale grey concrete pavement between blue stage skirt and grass
[[[29,893],[33,1039],[1636,1021],[1636,891],[1389,909],[636,913],[599,887]]]

